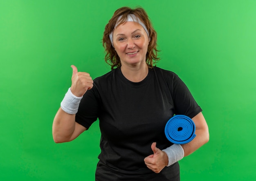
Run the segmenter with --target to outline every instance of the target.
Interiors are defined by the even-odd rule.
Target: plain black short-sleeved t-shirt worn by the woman
[[[144,158],[151,144],[163,150],[173,143],[164,135],[173,115],[194,117],[202,109],[173,72],[149,68],[141,82],[130,82],[117,68],[94,79],[79,105],[76,122],[89,128],[99,118],[101,153],[96,180],[168,181],[179,177],[178,163],[159,174],[148,169]]]

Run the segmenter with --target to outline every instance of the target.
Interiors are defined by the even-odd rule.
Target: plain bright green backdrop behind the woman
[[[210,141],[180,161],[181,180],[256,180],[255,0],[0,0],[0,180],[94,180],[98,121],[69,143],[52,121],[74,64],[110,71],[101,39],[122,6],[146,9],[162,60],[203,109]]]

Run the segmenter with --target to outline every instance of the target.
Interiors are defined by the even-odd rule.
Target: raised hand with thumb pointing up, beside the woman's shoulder
[[[92,77],[90,77],[89,73],[78,72],[74,65],[71,67],[73,69],[71,92],[76,97],[82,97],[87,90],[90,90],[93,87]]]

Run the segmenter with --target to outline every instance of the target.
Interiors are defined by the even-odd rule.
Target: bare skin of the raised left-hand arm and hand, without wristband
[[[92,88],[92,77],[86,72],[78,72],[76,66],[71,66],[72,73],[72,85],[71,93],[76,97],[82,97],[85,92]],[[52,124],[52,136],[54,142],[63,143],[72,141],[78,137],[83,131],[87,130],[81,124],[75,121],[75,113],[66,113],[62,108],[57,111]]]

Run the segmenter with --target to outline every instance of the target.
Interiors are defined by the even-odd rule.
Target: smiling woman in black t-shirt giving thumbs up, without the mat
[[[122,7],[105,27],[103,46],[111,71],[94,80],[72,65],[72,85],[53,122],[56,143],[72,141],[99,118],[101,154],[96,180],[178,181],[177,161],[209,140],[202,109],[159,60],[157,35],[142,8]],[[164,135],[174,114],[192,118],[196,137],[178,145]]]

